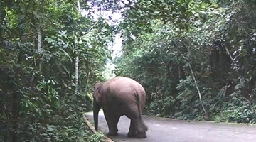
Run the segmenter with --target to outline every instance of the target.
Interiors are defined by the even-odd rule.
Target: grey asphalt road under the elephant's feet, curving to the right
[[[85,114],[93,124],[92,112]],[[127,138],[130,119],[122,116],[118,123],[118,136],[110,137],[116,142],[256,142],[256,125],[225,124],[203,121],[181,121],[143,116],[149,126],[147,138]],[[102,111],[99,114],[99,129],[108,133]]]

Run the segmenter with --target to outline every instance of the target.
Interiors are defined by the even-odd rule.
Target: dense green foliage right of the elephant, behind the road
[[[115,59],[115,72],[142,83],[146,114],[201,120],[207,112],[210,120],[255,123],[252,1],[123,6],[123,55]]]

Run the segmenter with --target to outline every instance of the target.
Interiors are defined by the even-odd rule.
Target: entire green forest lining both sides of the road
[[[255,0],[0,0],[0,141],[104,141],[82,113],[106,72],[146,115],[256,124],[255,23]]]

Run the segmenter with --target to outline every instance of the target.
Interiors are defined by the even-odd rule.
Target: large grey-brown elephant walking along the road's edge
[[[103,109],[108,136],[116,136],[120,116],[131,119],[128,137],[146,138],[148,127],[142,120],[142,110],[146,104],[146,92],[141,84],[128,77],[114,77],[95,84],[93,92],[93,117],[95,130],[98,127],[98,114]]]

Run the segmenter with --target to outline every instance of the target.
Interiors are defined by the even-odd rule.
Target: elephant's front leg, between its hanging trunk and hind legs
[[[120,116],[113,116],[110,113],[104,113],[105,119],[107,121],[107,126],[109,127],[108,136],[116,136],[117,135],[117,124],[120,119]]]

